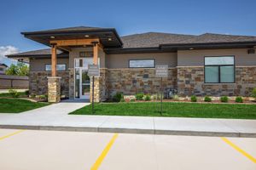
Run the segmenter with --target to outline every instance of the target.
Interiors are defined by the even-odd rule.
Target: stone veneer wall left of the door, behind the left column
[[[49,71],[30,71],[29,72],[29,93],[42,95],[48,94],[48,79],[51,77]],[[61,77],[61,95],[69,96],[69,71],[57,72],[57,77]]]

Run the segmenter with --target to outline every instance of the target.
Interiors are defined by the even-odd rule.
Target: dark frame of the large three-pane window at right
[[[234,65],[206,65],[207,57],[233,57]],[[206,82],[206,66],[216,66],[218,67],[218,82]],[[234,82],[220,82],[220,67],[222,66],[233,66],[234,67]],[[236,83],[236,57],[235,55],[218,55],[218,56],[204,56],[204,83],[206,84],[230,84]]]

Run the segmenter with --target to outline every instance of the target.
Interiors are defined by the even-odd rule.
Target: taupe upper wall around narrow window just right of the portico
[[[128,68],[129,59],[155,59],[156,65],[177,66],[176,53],[157,54],[107,54],[106,61],[109,69]]]

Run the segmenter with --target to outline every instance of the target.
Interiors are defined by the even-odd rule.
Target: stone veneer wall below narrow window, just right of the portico
[[[123,94],[158,94],[160,78],[154,75],[155,69],[108,69],[105,74],[108,98],[122,92]],[[163,88],[177,88],[177,69],[169,68],[169,77],[163,78]]]

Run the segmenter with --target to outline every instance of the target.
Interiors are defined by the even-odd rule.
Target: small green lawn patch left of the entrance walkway
[[[0,113],[20,113],[39,107],[49,105],[48,103],[36,103],[26,99],[0,99]]]

